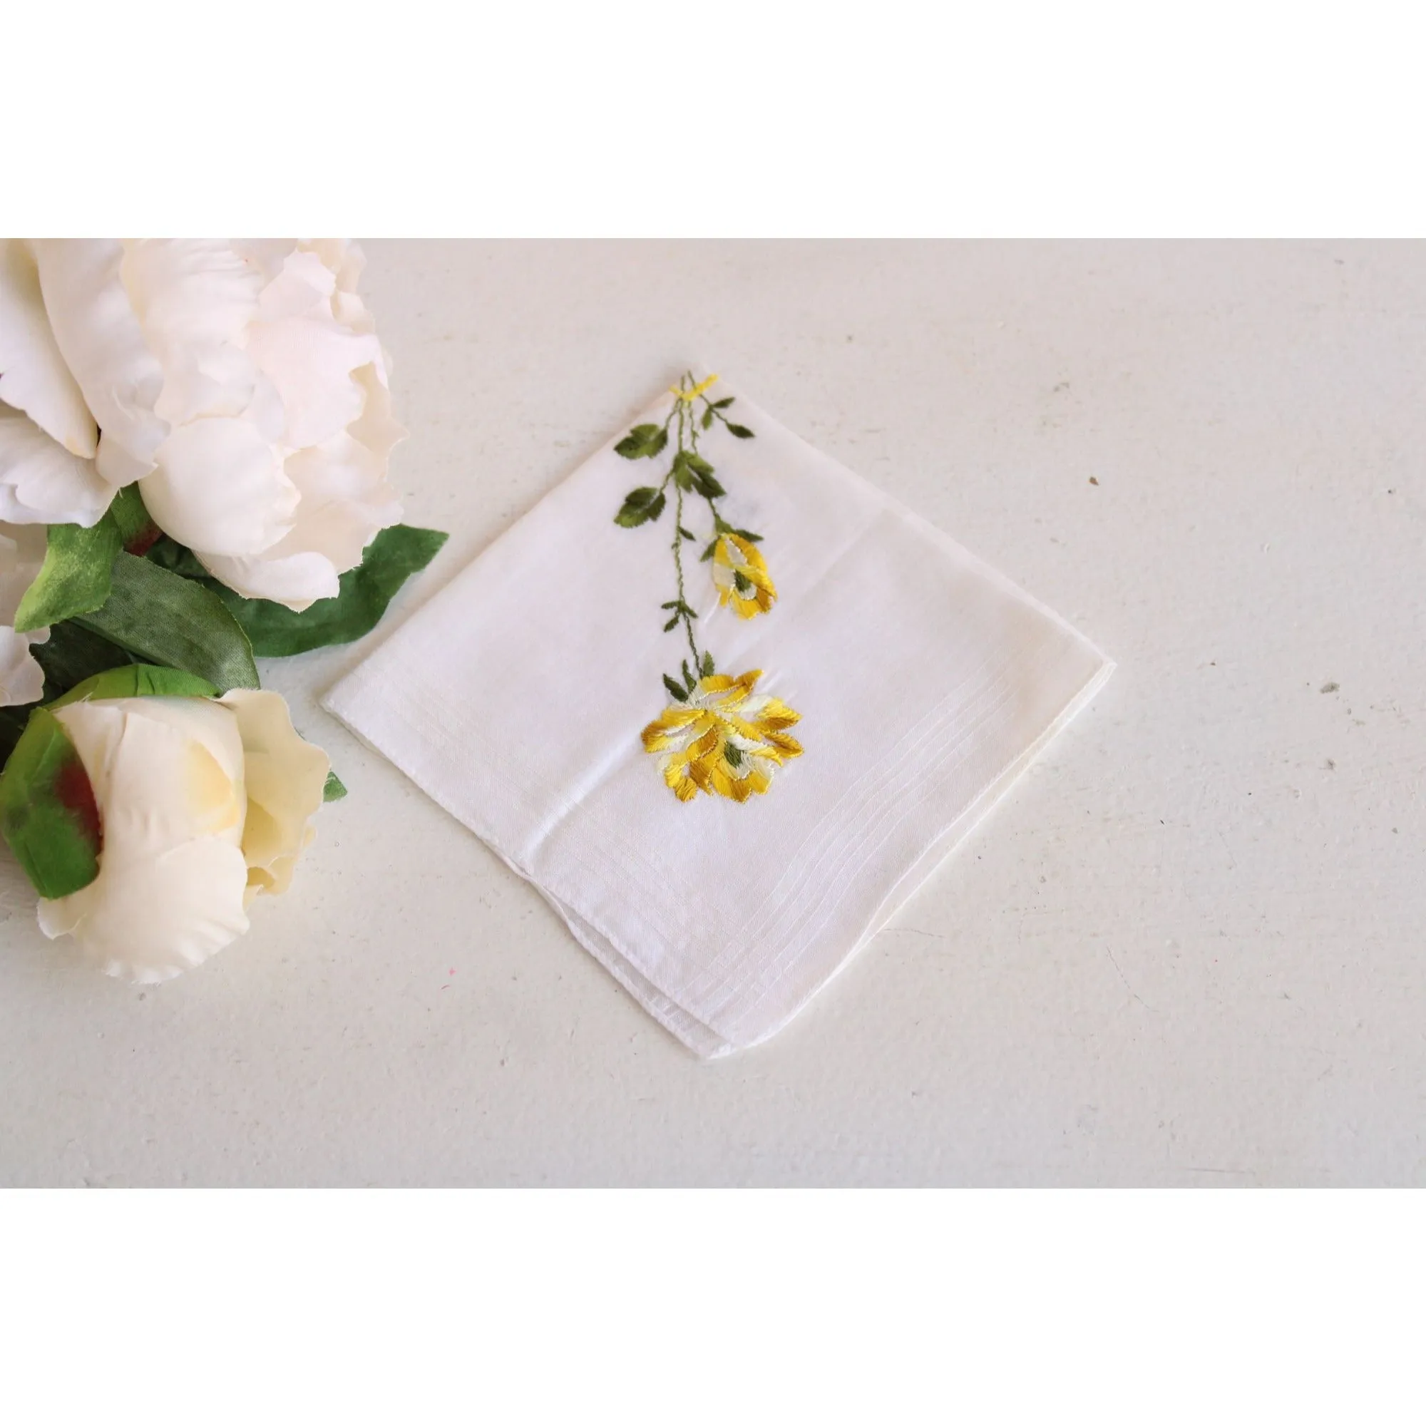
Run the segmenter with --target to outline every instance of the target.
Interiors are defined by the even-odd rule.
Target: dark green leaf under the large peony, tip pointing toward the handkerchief
[[[392,525],[366,546],[361,563],[341,576],[334,597],[318,599],[301,613],[271,599],[244,599],[215,579],[202,583],[242,626],[258,657],[281,659],[371,633],[396,590],[425,569],[445,542],[445,530]]]

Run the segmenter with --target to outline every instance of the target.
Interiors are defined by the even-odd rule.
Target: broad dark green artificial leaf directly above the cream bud
[[[118,553],[108,599],[80,623],[147,663],[195,673],[224,693],[260,687],[252,646],[222,600],[137,555]]]

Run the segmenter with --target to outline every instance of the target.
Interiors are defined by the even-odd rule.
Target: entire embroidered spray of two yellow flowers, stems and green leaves
[[[702,559],[712,562],[713,586],[719,603],[740,619],[767,613],[777,600],[777,588],[767,572],[767,560],[757,545],[761,535],[730,525],[719,511],[727,495],[712,463],[699,451],[699,434],[720,422],[739,441],[753,439],[747,426],[727,418],[732,396],[712,401],[706,392],[717,381],[709,376],[694,385],[693,374],[670,388],[673,406],[663,425],[649,422],[635,426],[616,446],[626,461],[655,459],[669,445],[670,428],[677,442],[673,461],[659,485],[630,491],[615,516],[625,529],[656,523],[673,493],[673,572],[677,596],[663,605],[665,633],[682,626],[689,646],[673,674],[663,676],[663,686],[673,697],[663,713],[643,730],[645,752],[659,759],[663,780],[679,801],[693,801],[699,793],[729,797],[744,803],[753,793],[766,793],[773,774],[789,759],[801,756],[801,744],[789,737],[787,729],[800,714],[767,694],[754,694],[761,669],[730,677],[719,673],[713,655],[699,649],[697,610],[689,603],[683,570],[684,542],[699,536],[684,525],[684,496],[707,502],[712,538]],[[697,412],[694,404],[702,402]]]

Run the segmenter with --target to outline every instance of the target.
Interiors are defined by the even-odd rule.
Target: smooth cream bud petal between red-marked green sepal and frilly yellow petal
[[[54,714],[94,789],[98,876],[40,903],[110,975],[140,984],[198,965],[248,928],[237,719],[207,699],[96,699]]]

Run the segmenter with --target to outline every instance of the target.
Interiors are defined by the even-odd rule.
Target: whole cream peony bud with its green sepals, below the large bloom
[[[281,694],[214,693],[168,669],[98,674],[31,714],[0,777],[40,928],[110,975],[168,980],[222,950],[312,840],[327,754]]]

